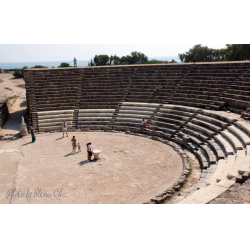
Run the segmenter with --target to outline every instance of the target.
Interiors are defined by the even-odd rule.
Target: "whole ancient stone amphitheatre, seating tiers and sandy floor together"
[[[0,203],[250,204],[250,62],[37,68],[24,81],[36,142],[1,136]]]

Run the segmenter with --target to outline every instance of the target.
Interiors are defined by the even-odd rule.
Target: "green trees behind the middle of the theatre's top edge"
[[[172,60],[172,63],[176,61]],[[168,63],[168,61],[158,61],[155,59],[148,60],[148,57],[141,52],[131,52],[130,55],[119,57],[117,55],[95,55],[90,60],[88,66],[108,66],[108,65],[129,65],[129,64],[161,64]]]

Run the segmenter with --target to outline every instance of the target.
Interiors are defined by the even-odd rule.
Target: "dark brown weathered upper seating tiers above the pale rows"
[[[123,101],[227,108],[239,114],[250,107],[246,61],[27,69],[24,80],[35,127],[37,112],[114,109]]]

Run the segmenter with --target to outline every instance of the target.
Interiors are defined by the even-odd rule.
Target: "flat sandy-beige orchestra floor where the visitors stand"
[[[73,135],[82,145],[75,155]],[[0,141],[0,203],[142,204],[178,181],[183,170],[170,146],[124,133],[46,133],[36,139]],[[87,142],[101,150],[99,160],[87,161]]]

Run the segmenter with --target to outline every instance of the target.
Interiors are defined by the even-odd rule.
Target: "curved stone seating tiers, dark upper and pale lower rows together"
[[[181,204],[209,203],[250,177],[249,62],[26,69],[24,80],[29,126],[39,132],[61,131],[66,121],[73,131],[123,131],[170,145],[182,171],[148,203],[163,202],[189,174],[180,145],[202,167]]]

